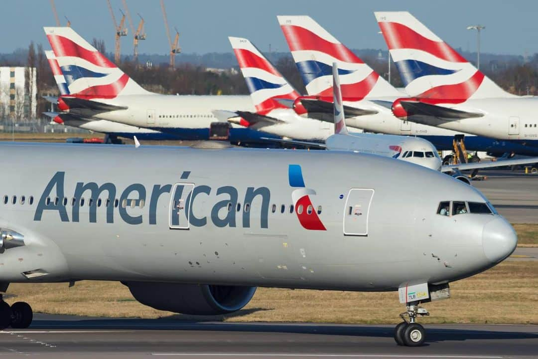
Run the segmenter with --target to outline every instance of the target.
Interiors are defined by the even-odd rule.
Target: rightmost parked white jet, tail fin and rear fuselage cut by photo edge
[[[507,93],[406,11],[376,12],[406,85],[394,115],[538,147],[538,99]]]

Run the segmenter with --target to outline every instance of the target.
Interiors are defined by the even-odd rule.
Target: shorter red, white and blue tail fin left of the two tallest
[[[229,37],[239,68],[249,87],[256,112],[266,115],[276,108],[287,108],[276,99],[295,100],[299,93],[249,40]]]

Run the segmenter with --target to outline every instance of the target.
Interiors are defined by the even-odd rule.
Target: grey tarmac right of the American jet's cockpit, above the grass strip
[[[523,171],[480,171],[487,177],[473,181],[510,223],[538,223],[538,175]]]

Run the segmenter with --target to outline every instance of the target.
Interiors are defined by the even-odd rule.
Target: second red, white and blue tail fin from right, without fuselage
[[[402,95],[309,16],[278,16],[278,22],[308,95],[332,97],[333,62],[344,98]]]

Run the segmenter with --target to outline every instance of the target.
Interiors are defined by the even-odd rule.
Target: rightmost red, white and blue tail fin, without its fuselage
[[[376,12],[375,15],[410,96],[434,103],[513,96],[409,12]]]

